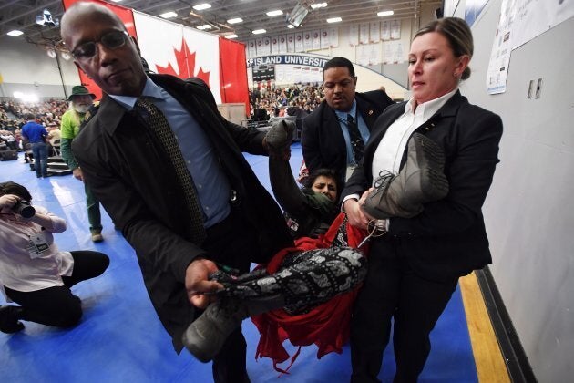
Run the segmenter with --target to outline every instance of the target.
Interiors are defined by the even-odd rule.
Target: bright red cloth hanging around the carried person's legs
[[[275,254],[270,264],[267,265],[267,271],[270,274],[277,272],[283,258],[294,251],[329,247],[343,222],[346,225],[349,246],[356,248],[366,233],[343,221],[344,218],[344,213],[340,213],[329,231],[320,238],[301,238],[295,242],[295,247],[283,249]],[[319,305],[302,315],[292,316],[280,309],[260,316],[252,316],[251,320],[261,334],[255,358],[270,357],[273,360],[273,367],[277,371],[287,373],[299,355],[299,350],[292,357],[289,367],[285,369],[277,367],[278,363],[289,358],[285,347],[282,346],[286,339],[289,339],[293,346],[299,347],[314,343],[319,347],[317,358],[333,351],[341,354],[343,345],[349,339],[351,309],[357,293],[358,287],[350,293],[337,295],[323,305]]]

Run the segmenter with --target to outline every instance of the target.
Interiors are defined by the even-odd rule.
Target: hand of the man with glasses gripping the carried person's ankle
[[[210,274],[218,270],[218,267],[209,259],[197,259],[190,263],[185,271],[185,288],[188,291],[191,305],[199,308],[207,307],[213,300],[213,296],[204,293],[216,292],[223,288],[223,285],[209,280]]]

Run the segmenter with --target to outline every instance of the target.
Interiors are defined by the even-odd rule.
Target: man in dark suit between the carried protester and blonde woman
[[[357,93],[356,84],[347,58],[333,57],[324,65],[325,99],[302,125],[302,154],[309,171],[333,169],[345,181],[347,169],[363,157],[374,121],[393,104],[384,90]]]

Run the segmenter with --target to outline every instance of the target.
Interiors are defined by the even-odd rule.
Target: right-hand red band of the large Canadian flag
[[[245,45],[224,37],[220,37],[220,88],[221,102],[242,102],[245,116],[250,115]]]

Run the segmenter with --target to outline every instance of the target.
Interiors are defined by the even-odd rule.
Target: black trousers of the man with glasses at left
[[[249,223],[241,219],[241,212],[231,208],[230,215],[221,223],[207,230],[203,248],[212,261],[237,269],[240,274],[249,272],[251,259],[258,252],[257,233]],[[200,310],[198,310],[198,316]],[[215,383],[249,382],[246,368],[247,343],[241,328],[231,333],[220,354],[213,358]]]

